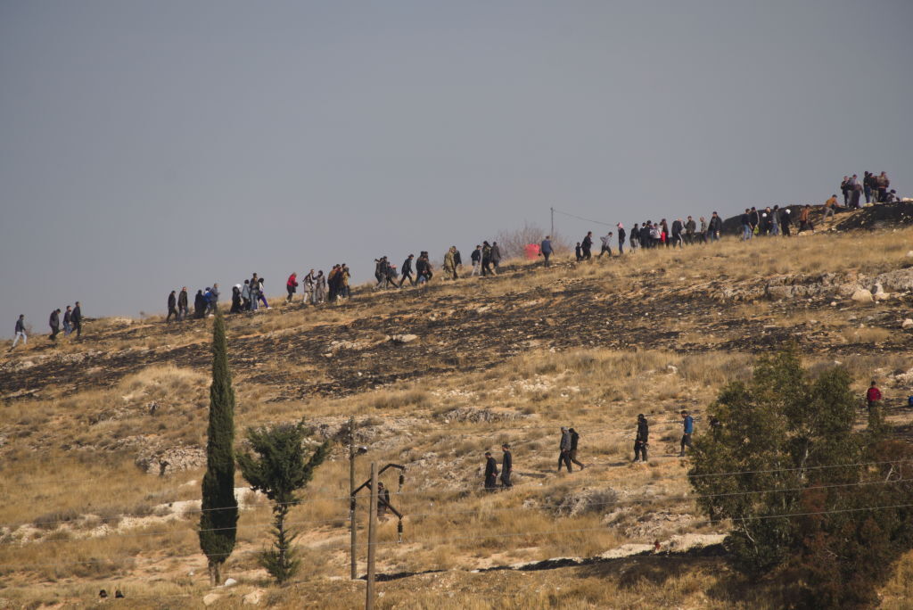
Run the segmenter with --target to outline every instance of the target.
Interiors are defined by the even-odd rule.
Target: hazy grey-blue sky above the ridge
[[[913,2],[0,0],[0,326],[257,271],[913,193]],[[602,230],[558,218],[579,238]]]

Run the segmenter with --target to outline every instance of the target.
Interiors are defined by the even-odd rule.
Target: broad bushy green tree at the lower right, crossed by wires
[[[755,577],[781,569],[797,605],[869,604],[913,546],[913,512],[902,506],[913,503],[913,452],[880,423],[855,430],[850,384],[842,368],[811,378],[795,345],[761,356],[748,383],[710,405],[719,426],[692,454],[698,505],[732,523],[735,567]]]

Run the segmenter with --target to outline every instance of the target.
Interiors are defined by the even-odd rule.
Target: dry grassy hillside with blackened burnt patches
[[[815,235],[547,269],[514,261],[496,278],[228,316],[238,439],[304,417],[315,438],[340,441],[292,511],[304,567],[283,589],[255,557],[269,542],[268,504],[240,476],[226,569],[238,584],[211,590],[198,550],[211,320],[106,319],[89,321],[81,342],[35,336],[11,352],[5,342],[0,600],[81,607],[121,588],[130,607],[360,604],[344,445],[355,416],[359,478],[372,460],[407,468],[393,499],[403,541],[395,520],[380,532],[382,607],[777,607],[774,587],[729,571],[725,524],[689,497],[677,412],[697,416],[699,435],[723,384],[796,341],[810,365],[845,365],[860,396],[876,379],[893,433],[913,434],[907,206],[846,212]],[[648,465],[630,463],[638,413],[651,422]],[[567,425],[589,468],[556,474]],[[515,486],[485,494],[483,453],[499,457],[503,442]],[[399,490],[395,475],[384,480]],[[362,545],[359,573],[363,555]],[[540,563],[556,558],[580,560]],[[886,607],[913,595],[910,569],[913,554],[883,591]]]

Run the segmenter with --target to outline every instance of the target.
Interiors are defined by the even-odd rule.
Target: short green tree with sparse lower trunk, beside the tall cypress
[[[251,489],[262,491],[273,501],[272,531],[276,541],[272,549],[260,554],[260,564],[279,584],[294,576],[300,563],[292,547],[299,532],[289,530],[286,524],[289,510],[301,501],[299,489],[304,489],[314,470],[330,455],[331,444],[327,441],[307,458],[302,445],[307,435],[303,422],[251,428],[247,440],[253,454],[245,452],[237,457],[241,474]]]

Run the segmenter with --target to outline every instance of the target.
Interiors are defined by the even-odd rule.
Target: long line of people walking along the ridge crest
[[[885,172],[880,174],[866,172],[861,183],[856,174],[844,176],[840,184],[844,206],[849,208],[860,207],[863,197],[865,197],[866,204],[882,204],[896,201],[897,192],[895,189],[889,188],[890,184]],[[834,217],[835,209],[838,207],[840,205],[838,204],[837,195],[831,195],[820,206],[822,222]],[[815,228],[813,210],[812,205],[803,205],[798,209],[796,209],[796,206],[781,207],[780,205],[767,206],[763,209],[754,206],[748,207],[739,216],[738,235],[742,240],[762,236],[789,237],[792,235],[793,227],[798,229],[799,232],[813,232]],[[618,223],[614,226],[614,231],[608,231],[604,236],[599,237],[601,248],[596,258],[603,258],[605,255],[608,255],[609,258],[614,257],[614,245],[618,248],[618,256],[624,256],[625,246],[628,247],[629,253],[635,253],[639,248],[686,247],[717,241],[722,234],[723,219],[717,212],[713,212],[708,218],[704,216],[699,216],[698,219],[693,216],[687,216],[685,219],[677,218],[671,224],[666,221],[666,218],[661,219],[659,222],[645,220],[643,223],[635,223],[630,233],[625,230],[622,223]],[[593,259],[594,243],[593,231],[588,231],[582,240],[576,243],[574,248],[577,262]],[[544,259],[545,267],[550,267],[551,258],[555,253],[551,236],[546,236],[542,239],[538,247],[539,256]],[[502,252],[498,242],[492,241],[489,243],[488,240],[484,240],[472,250],[469,256],[472,268],[468,273],[468,277],[497,276],[501,260]],[[461,275],[463,275],[462,255],[456,246],[451,246],[444,254],[442,277],[456,280]],[[408,255],[399,270],[390,262],[389,258],[383,256],[374,259],[374,279],[376,283],[373,285],[373,289],[403,289],[406,281],[412,287],[426,287],[434,276],[434,265],[427,251],[421,251],[418,258],[415,258],[413,254]],[[348,299],[352,296],[351,279],[352,272],[345,263],[333,265],[326,275],[324,275],[322,269],[316,272],[314,269],[310,269],[300,279],[298,273],[292,273],[286,281],[286,302],[294,302],[299,288],[303,292],[301,303],[304,305],[316,306]],[[244,283],[233,286],[229,313],[253,313],[261,309],[270,309],[264,287],[264,279],[258,277],[256,273],[250,279],[245,279]],[[219,296],[219,285],[217,283],[213,283],[212,287],[198,289],[194,296],[194,310],[192,313],[189,308],[187,287],[184,286],[180,291],[172,290],[168,295],[168,313],[164,321],[166,323],[172,321],[181,322],[213,315],[215,310],[218,309]],[[82,313],[79,302],[76,302],[75,306],[67,306],[64,311],[59,309],[51,311],[48,325],[50,327],[49,337],[52,342],[57,342],[61,321],[63,323],[64,336],[68,337],[72,332],[75,332],[76,338],[79,339],[82,332]],[[16,320],[12,348],[15,348],[20,341],[24,344],[28,341],[26,328],[25,316],[20,315]]]

